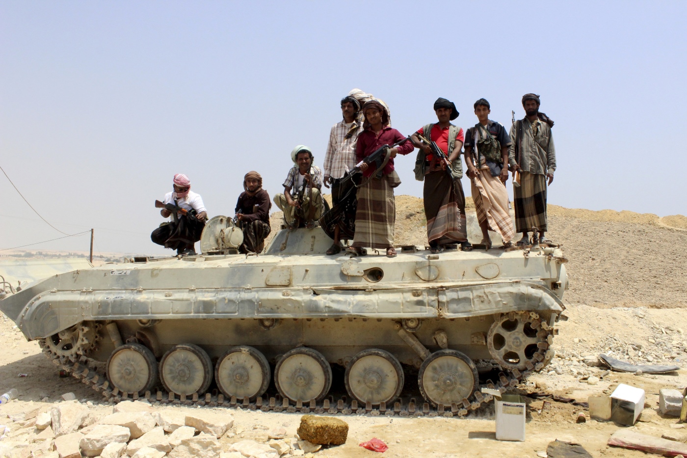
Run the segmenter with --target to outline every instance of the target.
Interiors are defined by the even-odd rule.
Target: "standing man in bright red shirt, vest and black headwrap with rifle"
[[[415,178],[425,182],[427,240],[433,253],[440,252],[440,246],[456,241],[460,242],[463,251],[471,251],[473,248],[468,241],[465,219],[465,195],[460,183],[463,176],[460,150],[465,137],[463,129],[451,124],[460,113],[453,102],[441,97],[434,102],[434,111],[439,122],[427,124],[410,136],[420,149],[415,163]],[[432,144],[436,145],[435,151]]]

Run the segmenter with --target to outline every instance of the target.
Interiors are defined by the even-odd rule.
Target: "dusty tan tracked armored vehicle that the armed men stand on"
[[[557,246],[328,257],[319,227],[283,229],[259,255],[238,254],[241,240],[215,217],[202,254],[58,274],[0,309],[115,401],[466,415],[491,400],[481,388],[506,391],[552,358],[567,287]],[[494,381],[480,382],[485,367]],[[399,400],[410,376],[417,408]]]

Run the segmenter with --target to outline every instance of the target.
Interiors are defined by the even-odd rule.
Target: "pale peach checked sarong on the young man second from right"
[[[486,221],[488,230],[501,235],[504,243],[515,236],[513,219],[508,212],[508,190],[499,177],[491,176],[489,168],[482,168],[476,179],[470,180],[477,221]]]

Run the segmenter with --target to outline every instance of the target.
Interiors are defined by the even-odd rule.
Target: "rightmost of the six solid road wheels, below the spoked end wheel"
[[[477,389],[480,379],[475,363],[460,351],[439,350],[420,366],[420,393],[433,406],[460,405]]]

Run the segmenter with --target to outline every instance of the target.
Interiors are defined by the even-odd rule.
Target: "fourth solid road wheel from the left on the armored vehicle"
[[[332,368],[322,353],[307,347],[288,351],[274,369],[274,383],[292,402],[321,401],[332,386]]]

